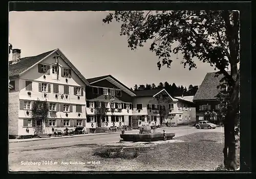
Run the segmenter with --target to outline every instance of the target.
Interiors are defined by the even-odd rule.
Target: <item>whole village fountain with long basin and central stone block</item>
[[[151,126],[142,125],[139,134],[120,134],[123,141],[130,142],[152,142],[163,140],[163,133],[152,133]],[[166,140],[173,139],[175,133],[166,133]]]

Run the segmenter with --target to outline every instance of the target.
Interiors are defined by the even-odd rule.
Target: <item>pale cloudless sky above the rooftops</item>
[[[121,23],[103,23],[110,11],[24,11],[9,13],[9,43],[22,50],[21,58],[59,48],[86,79],[111,74],[129,88],[160,82],[188,87],[200,85],[208,63],[196,60],[197,69],[184,68],[182,55],[173,55],[171,68],[158,70],[150,43],[136,51],[120,36]],[[10,58],[12,54],[10,54]]]

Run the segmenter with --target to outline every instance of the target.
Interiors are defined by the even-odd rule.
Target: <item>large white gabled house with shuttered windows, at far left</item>
[[[34,135],[35,131],[51,134],[53,129],[86,126],[84,90],[89,83],[60,49],[25,58],[20,58],[20,52],[12,50],[9,65],[13,86],[9,92],[9,135]],[[38,118],[36,127],[32,127],[31,110],[36,100],[47,100],[49,123]]]

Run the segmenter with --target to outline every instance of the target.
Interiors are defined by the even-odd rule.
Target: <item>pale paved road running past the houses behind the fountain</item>
[[[162,132],[163,129],[157,129],[156,132]],[[192,134],[195,132],[224,132],[222,127],[217,127],[216,129],[196,129],[191,126],[179,126],[179,127],[167,127],[165,128],[167,133],[174,132],[175,137],[184,136]],[[139,131],[126,131],[125,134],[138,134]],[[79,136],[71,138],[56,138],[50,140],[36,140],[36,141],[26,141],[26,142],[15,142],[9,143],[9,151],[15,152],[19,150],[33,150],[40,148],[55,148],[64,146],[74,146],[80,144],[100,144],[108,142],[118,142],[120,140],[120,133],[115,134],[104,134],[104,135],[92,135],[92,136]]]

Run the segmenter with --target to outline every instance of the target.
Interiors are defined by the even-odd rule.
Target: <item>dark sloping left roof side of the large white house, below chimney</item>
[[[9,76],[11,77],[11,76],[19,75],[20,73],[22,73],[23,71],[25,71],[26,69],[34,65],[35,63],[39,62],[41,59],[51,54],[54,50],[51,50],[49,52],[45,52],[33,57],[21,58],[19,62],[9,65]]]

